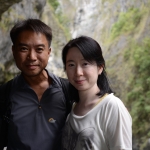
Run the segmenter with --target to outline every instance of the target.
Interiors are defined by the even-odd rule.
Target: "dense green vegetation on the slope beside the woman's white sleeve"
[[[133,134],[138,136],[141,149],[150,138],[150,38],[142,44],[133,44],[132,57],[135,64],[131,80],[128,103],[133,116]]]

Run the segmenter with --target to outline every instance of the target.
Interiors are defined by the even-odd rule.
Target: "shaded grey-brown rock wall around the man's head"
[[[54,8],[46,0],[16,0],[3,1],[0,6],[0,83],[12,78],[18,72],[15,67],[9,31],[12,26],[21,19],[40,18],[53,30],[52,54],[48,69],[59,76],[65,76],[60,59],[62,46],[67,42],[64,27],[55,16]]]

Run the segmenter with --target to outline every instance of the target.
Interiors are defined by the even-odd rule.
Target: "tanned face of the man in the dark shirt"
[[[22,73],[34,77],[47,66],[51,49],[44,34],[26,30],[19,34],[12,51]]]

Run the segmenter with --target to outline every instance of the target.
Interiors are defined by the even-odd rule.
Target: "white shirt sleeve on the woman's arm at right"
[[[110,150],[132,150],[132,118],[122,101],[115,96],[105,108],[104,133]]]

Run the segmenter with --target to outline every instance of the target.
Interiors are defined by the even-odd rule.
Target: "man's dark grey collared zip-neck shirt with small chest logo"
[[[53,82],[40,102],[22,75],[14,79],[8,150],[60,149],[66,102],[59,79],[53,74],[49,75]]]

